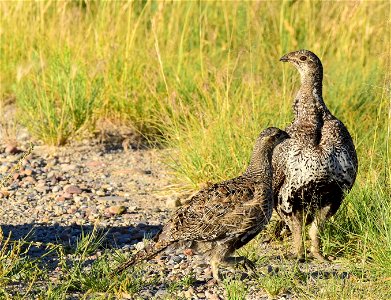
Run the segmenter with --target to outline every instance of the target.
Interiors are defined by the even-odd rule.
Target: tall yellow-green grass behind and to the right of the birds
[[[244,169],[257,134],[291,119],[299,76],[279,57],[300,48],[318,54],[325,102],[349,128],[359,156],[357,182],[326,225],[323,251],[365,276],[296,291],[358,299],[363,282],[373,299],[390,291],[388,1],[0,6],[0,99],[16,100],[31,134],[62,145],[98,119],[126,124],[173,149],[169,163],[185,188]]]

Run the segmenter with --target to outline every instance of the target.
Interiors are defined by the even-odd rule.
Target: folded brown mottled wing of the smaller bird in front
[[[245,227],[246,218],[251,222],[262,209],[258,203],[255,184],[232,180],[214,184],[192,197],[168,222],[173,236],[180,240],[212,241],[235,234],[240,223]],[[243,218],[246,215],[246,218]]]

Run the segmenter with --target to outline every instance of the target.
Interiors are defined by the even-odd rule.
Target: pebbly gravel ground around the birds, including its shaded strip
[[[169,192],[171,178],[162,163],[162,158],[169,155],[167,150],[131,143],[124,150],[121,144],[91,140],[61,148],[35,146],[21,168],[13,171],[28,145],[25,139],[18,147],[0,146],[0,181],[6,174],[12,174],[7,188],[0,189],[0,226],[6,236],[12,232],[12,240],[28,236],[27,240],[41,243],[29,250],[31,257],[45,254],[47,243],[74,246],[82,232],[90,232],[94,226],[108,232],[105,248],[134,251],[180,205],[178,195]],[[277,272],[286,264],[286,260],[281,260],[284,252],[281,246],[271,249],[273,245],[262,244],[260,248],[266,257],[259,270],[261,274]],[[45,256],[44,260],[56,277],[54,254]],[[293,262],[289,264],[292,266]],[[190,275],[195,282],[190,287],[179,288],[175,292],[178,298],[226,298],[224,286],[211,281],[211,270],[198,255],[185,255],[183,249],[176,249],[147,265],[146,277],[164,275],[166,283],[145,286],[130,299],[164,299],[169,293],[167,282],[175,283]],[[299,267],[303,273],[319,277],[316,271],[319,265]],[[332,274],[338,271],[338,266],[326,264],[321,269],[326,272],[323,274]],[[248,288],[247,299],[268,299],[254,279],[247,278],[242,271],[236,274],[242,276]],[[278,299],[296,298],[283,294]]]

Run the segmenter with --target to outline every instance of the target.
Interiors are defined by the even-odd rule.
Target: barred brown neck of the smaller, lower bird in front
[[[244,176],[251,177],[252,180],[264,178],[272,178],[272,153],[271,147],[259,145],[258,143],[254,147],[254,151],[251,156],[250,164],[248,165]],[[265,176],[266,175],[266,176]]]

